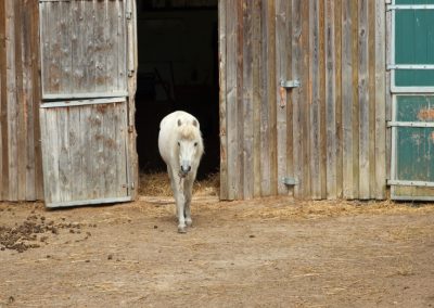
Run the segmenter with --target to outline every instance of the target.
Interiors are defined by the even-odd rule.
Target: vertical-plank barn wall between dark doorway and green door
[[[222,198],[385,197],[384,9],[219,1]]]

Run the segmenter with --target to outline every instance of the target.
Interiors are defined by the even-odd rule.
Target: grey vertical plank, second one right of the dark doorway
[[[239,155],[238,155],[238,8],[235,0],[228,1],[227,11],[227,125],[228,125],[228,197],[239,195]]]

